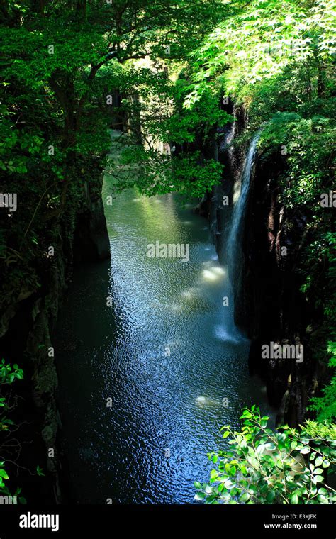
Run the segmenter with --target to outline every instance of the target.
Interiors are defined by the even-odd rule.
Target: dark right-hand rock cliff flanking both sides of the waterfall
[[[209,219],[220,262],[226,263],[228,236],[235,192],[247,152],[245,144],[230,146],[247,126],[245,111],[235,107],[233,126],[218,131],[216,149],[225,165],[223,182],[201,201],[198,211]],[[242,244],[239,268],[233,276],[235,323],[251,339],[249,368],[267,385],[270,404],[279,409],[278,422],[297,426],[306,417],[308,399],[323,377],[311,357],[310,335],[316,313],[300,292],[296,272],[306,235],[306,217],[290,212],[279,201],[279,174],[284,158],[256,155],[250,179],[245,223],[238,240]],[[223,206],[223,196],[229,204]],[[262,357],[262,345],[303,345],[303,361]]]

